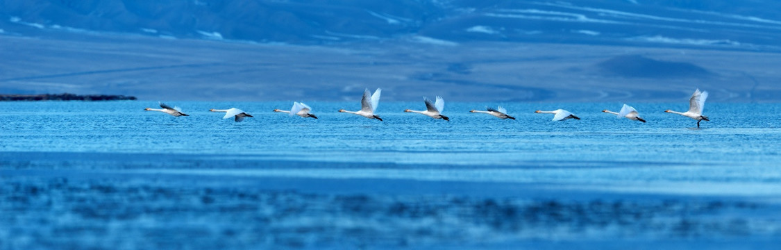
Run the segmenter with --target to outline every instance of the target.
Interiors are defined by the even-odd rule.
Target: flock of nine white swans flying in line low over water
[[[374,112],[377,109],[377,105],[380,104],[380,93],[382,93],[382,90],[380,88],[377,88],[376,91],[374,91],[374,94],[372,94],[369,89],[367,88],[365,91],[363,91],[363,98],[361,99],[361,110],[358,111],[348,111],[344,109],[339,109],[339,112],[348,112],[351,114],[356,114],[358,116],[363,116],[369,119],[376,119],[376,120],[382,120],[380,116],[377,116],[374,114]],[[675,114],[679,114],[681,116],[686,116],[691,119],[697,120],[697,127],[700,127],[700,122],[703,120],[708,120],[708,116],[702,115],[702,110],[705,105],[705,99],[708,98],[708,91],[700,91],[700,89],[697,89],[694,91],[694,94],[691,95],[691,98],[689,99],[689,110],[686,112],[676,112],[672,110],[665,110],[665,112],[672,112]],[[426,116],[429,116],[433,119],[441,119],[441,120],[447,120],[449,121],[450,118],[448,116],[443,116],[442,111],[444,110],[444,99],[437,96],[436,101],[431,101],[429,98],[423,98],[423,102],[426,103],[426,110],[418,111],[418,110],[412,110],[412,109],[405,109],[404,112],[416,112],[419,114],[423,114]],[[164,103],[160,103],[160,107],[162,109],[151,109],[146,108],[144,110],[147,111],[159,111],[159,112],[165,112],[171,116],[187,116],[179,107],[171,107],[169,105],[166,105]],[[236,122],[241,122],[246,117],[253,117],[247,112],[242,111],[241,109],[231,108],[231,109],[209,109],[211,112],[225,112],[225,116],[223,116],[223,119],[228,119],[230,117],[234,117],[234,120]],[[293,102],[293,108],[290,111],[282,110],[282,109],[274,109],[274,112],[287,112],[290,114],[290,116],[298,115],[304,118],[312,117],[314,119],[317,119],[317,116],[312,114],[312,108],[308,105],[305,105],[302,102]],[[491,116],[496,116],[499,119],[510,119],[515,120],[515,117],[509,116],[507,114],[507,109],[502,108],[499,106],[497,109],[493,108],[487,108],[486,111],[483,110],[472,110],[470,112],[482,112],[487,113]],[[575,119],[580,120],[578,116],[575,116],[572,112],[566,111],[564,109],[556,109],[553,111],[542,111],[537,110],[535,111],[537,113],[551,113],[554,114],[553,120],[555,121],[561,121],[561,120],[568,120],[568,119]],[[637,112],[636,109],[629,105],[623,105],[621,108],[621,111],[619,112],[612,112],[608,109],[602,110],[602,112],[607,112],[610,114],[613,114],[617,116],[618,118],[626,117],[626,119],[629,120],[637,120],[640,122],[645,123],[646,121],[640,117],[639,112]]]

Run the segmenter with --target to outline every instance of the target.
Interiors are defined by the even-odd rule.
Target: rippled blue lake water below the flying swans
[[[0,248],[776,248],[779,104],[0,103]],[[237,107],[242,123],[209,109]],[[567,109],[552,122],[534,110]]]

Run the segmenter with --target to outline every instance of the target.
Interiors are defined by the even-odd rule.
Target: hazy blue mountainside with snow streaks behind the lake
[[[776,1],[0,0],[0,93],[778,102]]]

